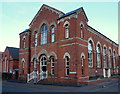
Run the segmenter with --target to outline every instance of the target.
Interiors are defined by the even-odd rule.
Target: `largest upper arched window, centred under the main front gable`
[[[44,25],[41,31],[41,44],[47,43],[47,31],[48,31],[48,28],[46,25]]]

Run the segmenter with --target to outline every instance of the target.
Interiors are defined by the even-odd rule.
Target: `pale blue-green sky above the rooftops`
[[[83,7],[90,26],[118,41],[118,2],[0,2],[0,51],[19,47],[19,33],[29,28],[43,4],[64,13]]]

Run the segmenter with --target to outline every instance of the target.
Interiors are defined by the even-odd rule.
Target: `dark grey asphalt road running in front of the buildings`
[[[118,90],[118,79],[79,87],[2,82],[2,92],[118,92]]]

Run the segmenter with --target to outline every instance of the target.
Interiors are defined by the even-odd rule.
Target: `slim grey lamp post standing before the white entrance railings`
[[[37,84],[37,58],[36,58],[36,42],[34,42],[35,44],[35,51],[34,51],[34,55],[35,55],[35,59],[34,59],[34,84]]]

